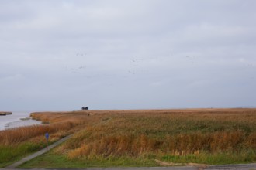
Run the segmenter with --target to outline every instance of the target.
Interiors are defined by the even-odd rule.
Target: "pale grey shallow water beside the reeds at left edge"
[[[31,118],[21,120],[22,118],[27,117],[29,117],[29,113],[26,112],[14,112],[10,115],[0,116],[0,131],[8,128],[18,128],[22,126],[41,124],[41,121],[35,121]]]

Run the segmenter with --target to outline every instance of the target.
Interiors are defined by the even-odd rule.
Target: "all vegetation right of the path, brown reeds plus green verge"
[[[256,109],[102,110],[90,113],[90,117],[85,111],[33,114],[43,121],[78,119],[84,123],[64,145],[23,167],[256,162]]]

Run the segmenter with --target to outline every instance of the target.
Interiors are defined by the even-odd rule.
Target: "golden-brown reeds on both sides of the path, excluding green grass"
[[[233,162],[256,162],[256,109],[83,110],[31,115],[46,124],[0,131],[0,144],[26,141],[48,131],[59,138],[74,134],[54,151],[69,160],[129,157],[207,163],[214,162],[214,155],[222,155]]]

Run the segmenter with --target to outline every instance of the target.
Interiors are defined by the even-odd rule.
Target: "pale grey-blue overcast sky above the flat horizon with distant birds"
[[[256,107],[256,1],[0,2],[0,110]]]

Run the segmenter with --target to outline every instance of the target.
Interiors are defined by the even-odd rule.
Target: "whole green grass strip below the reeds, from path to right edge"
[[[66,155],[49,151],[47,154],[26,162],[19,168],[109,168],[109,167],[157,167],[155,159],[178,164],[198,163],[207,165],[226,165],[251,163],[256,160],[256,151],[240,153],[200,153],[197,155],[144,155],[137,158],[129,156],[95,156],[92,158],[69,159]]]

